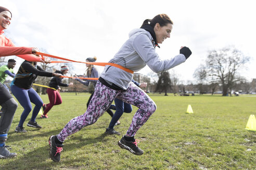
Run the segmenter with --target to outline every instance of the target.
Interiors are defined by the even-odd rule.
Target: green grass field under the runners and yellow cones
[[[67,138],[61,162],[49,158],[48,138],[58,134],[70,119],[82,115],[88,93],[61,93],[62,104],[39,119],[41,130],[25,126],[15,133],[23,108],[19,105],[7,145],[18,156],[0,159],[0,169],[256,169],[256,132],[245,130],[249,116],[256,115],[255,96],[163,96],[150,94],[156,112],[135,138],[141,156],[121,149],[118,135],[105,135],[111,117],[105,114],[90,126]],[[48,96],[41,96],[48,103]],[[191,105],[194,114],[186,114]],[[137,110],[123,114],[115,129],[125,134]],[[31,114],[25,121],[29,121]]]

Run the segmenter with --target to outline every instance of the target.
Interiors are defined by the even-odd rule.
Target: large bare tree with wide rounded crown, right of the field
[[[206,60],[207,78],[210,83],[221,83],[222,95],[226,96],[228,90],[232,91],[235,82],[241,80],[239,71],[249,60],[249,56],[245,56],[235,47],[211,50],[208,52]]]

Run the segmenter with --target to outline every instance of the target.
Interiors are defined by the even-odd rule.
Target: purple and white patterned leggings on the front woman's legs
[[[133,82],[130,83],[129,88],[125,91],[110,89],[98,81],[86,112],[81,116],[71,119],[58,134],[58,139],[64,141],[69,135],[80,131],[87,125],[95,123],[116,97],[125,103],[139,108],[133,116],[132,123],[126,132],[128,136],[134,136],[138,129],[157,109],[155,102]]]

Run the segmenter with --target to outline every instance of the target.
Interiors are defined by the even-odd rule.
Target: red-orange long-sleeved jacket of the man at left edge
[[[40,57],[32,53],[32,47],[15,47],[12,41],[3,35],[4,31],[0,30],[0,57],[17,55],[27,61],[40,62]]]

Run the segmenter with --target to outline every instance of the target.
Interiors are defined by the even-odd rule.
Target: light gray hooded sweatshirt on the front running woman
[[[130,32],[129,39],[125,41],[109,63],[116,63],[133,70],[133,72],[138,72],[148,65],[153,72],[159,73],[185,61],[186,58],[183,54],[178,54],[173,59],[161,60],[156,53],[155,42],[150,33],[144,29],[134,29]],[[133,79],[133,74],[106,65],[100,77],[110,85],[114,83],[126,90]]]

